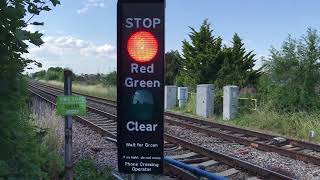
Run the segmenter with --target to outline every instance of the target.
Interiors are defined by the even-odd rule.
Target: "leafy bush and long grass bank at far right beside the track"
[[[233,123],[270,130],[308,140],[315,131],[320,140],[319,59],[320,36],[309,28],[299,39],[289,37],[271,57],[259,80],[259,109],[239,116]]]

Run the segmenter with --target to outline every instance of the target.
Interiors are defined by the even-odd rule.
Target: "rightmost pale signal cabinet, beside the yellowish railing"
[[[238,109],[238,86],[223,87],[223,119],[230,120],[236,117]]]

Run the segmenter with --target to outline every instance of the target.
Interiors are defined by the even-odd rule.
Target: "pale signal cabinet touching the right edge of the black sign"
[[[156,98],[156,97],[155,97]],[[172,109],[177,105],[177,86],[164,87],[164,109]]]

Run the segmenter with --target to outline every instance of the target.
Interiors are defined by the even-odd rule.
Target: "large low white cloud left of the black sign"
[[[72,36],[46,36],[41,47],[29,48],[25,57],[43,64],[42,69],[52,66],[67,67],[75,73],[106,73],[115,70],[116,48],[108,43],[96,44]],[[34,72],[34,69],[29,72]]]

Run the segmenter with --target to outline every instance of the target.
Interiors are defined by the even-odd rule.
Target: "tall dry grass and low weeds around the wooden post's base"
[[[38,137],[42,137],[41,146],[48,156],[45,156],[48,176],[44,179],[63,179],[63,157],[57,153],[63,147],[60,133],[63,118],[56,116],[54,109],[37,97],[31,99],[30,106],[34,119],[32,124],[37,127]],[[112,179],[111,172],[109,168],[98,170],[92,159],[82,159],[74,164],[74,178],[77,180]]]

